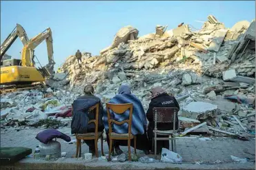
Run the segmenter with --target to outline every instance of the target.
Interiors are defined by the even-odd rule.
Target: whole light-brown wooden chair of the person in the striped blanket
[[[110,148],[109,148],[108,160],[110,161],[110,155],[111,155],[111,152],[112,152],[112,145],[113,145],[112,140],[128,140],[128,155],[129,155],[129,160],[131,160],[131,156],[130,156],[130,140],[131,139],[134,140],[134,147],[135,147],[135,154],[136,154],[136,136],[133,136],[131,134],[133,105],[132,105],[132,103],[128,103],[128,104],[110,104],[110,103],[107,103],[106,104],[106,109],[107,109],[107,114],[108,114],[108,128],[109,128],[108,136],[109,136],[109,139],[110,139]],[[123,120],[121,122],[118,122],[114,119],[110,119],[109,109],[114,111],[115,114],[124,114],[124,111],[130,109],[129,119]],[[115,123],[117,125],[122,125],[124,123],[128,123],[128,134],[117,134],[115,132],[112,132],[112,123]]]

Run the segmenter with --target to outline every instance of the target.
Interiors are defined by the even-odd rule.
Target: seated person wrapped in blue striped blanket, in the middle
[[[146,114],[144,108],[141,104],[141,101],[130,92],[130,87],[128,85],[121,85],[118,90],[118,94],[110,100],[109,103],[112,104],[125,104],[125,103],[132,103],[133,104],[133,111],[132,111],[132,135],[137,135],[137,143],[136,149],[143,150],[146,154],[149,153],[149,145],[148,145],[148,138],[146,135]],[[115,114],[111,109],[110,116],[118,122],[122,120],[127,120],[129,116],[129,110],[126,110],[124,114]],[[104,127],[106,129],[107,135],[107,142],[109,147],[109,136],[108,136],[108,115],[107,112],[104,111]],[[114,124],[112,126],[112,132],[117,134],[127,134],[128,133],[128,123],[124,123],[123,125]],[[134,147],[134,140],[131,140],[131,146]],[[114,140],[114,148],[117,155],[123,153],[119,146],[127,146],[127,140]]]

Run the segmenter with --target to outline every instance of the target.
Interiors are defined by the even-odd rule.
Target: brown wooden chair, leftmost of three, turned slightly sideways
[[[96,115],[95,115],[95,120],[90,120],[88,122],[88,125],[90,123],[95,123],[95,132],[91,133],[86,133],[86,134],[76,134],[76,139],[77,139],[77,152],[76,152],[76,158],[78,156],[79,152],[79,157],[81,157],[81,140],[95,140],[95,155],[98,158],[98,139],[101,138],[101,153],[102,156],[104,156],[104,151],[103,151],[103,131],[98,131],[98,121],[99,121],[99,103],[97,105],[94,105],[90,107],[88,114],[94,114],[94,109],[96,109]]]

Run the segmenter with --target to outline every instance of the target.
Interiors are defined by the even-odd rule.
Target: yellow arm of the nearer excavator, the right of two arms
[[[48,50],[48,64],[46,65],[46,69],[48,70],[49,74],[52,74],[55,61],[53,60],[52,31],[50,28],[47,28],[34,38],[30,39],[30,41],[23,47],[21,53],[21,65],[27,67],[35,67],[32,52],[44,40],[46,40]]]

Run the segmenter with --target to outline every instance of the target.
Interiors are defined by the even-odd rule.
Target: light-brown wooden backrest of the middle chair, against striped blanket
[[[121,122],[118,122],[117,120],[111,119],[110,118],[110,109],[113,112],[115,112],[115,114],[124,114],[124,112],[129,109],[128,119],[123,120]],[[122,125],[124,123],[128,123],[128,136],[130,138],[131,127],[132,127],[132,109],[133,109],[132,103],[126,103],[126,104],[107,103],[106,104],[106,110],[107,110],[107,114],[108,114],[108,128],[109,128],[109,133],[110,134],[112,133],[112,123],[115,123],[117,125]]]

